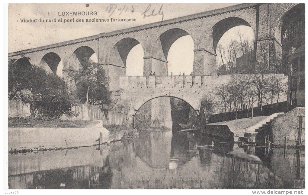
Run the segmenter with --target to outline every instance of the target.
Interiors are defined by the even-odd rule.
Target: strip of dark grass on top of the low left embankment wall
[[[26,128],[83,128],[95,125],[97,121],[89,120],[38,120],[32,117],[9,117],[9,127],[26,127]]]

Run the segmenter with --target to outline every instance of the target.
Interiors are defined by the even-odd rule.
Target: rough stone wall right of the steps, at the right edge
[[[290,112],[273,120],[271,124],[270,137],[275,145],[294,146],[298,140],[298,116],[305,116],[305,107],[297,107]],[[303,118],[303,128],[305,128],[305,117]],[[302,130],[302,141],[305,141],[305,129]],[[305,142],[302,143],[305,145]]]

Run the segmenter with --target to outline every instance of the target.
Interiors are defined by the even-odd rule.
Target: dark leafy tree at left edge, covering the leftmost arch
[[[22,56],[24,61],[29,60]],[[8,60],[8,98],[9,100],[20,100],[24,90],[28,89],[30,79],[30,71],[32,65],[16,64],[16,59]]]

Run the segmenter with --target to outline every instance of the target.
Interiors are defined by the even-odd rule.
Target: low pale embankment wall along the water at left
[[[98,144],[109,140],[106,128],[8,128],[8,148],[32,147],[80,147]]]

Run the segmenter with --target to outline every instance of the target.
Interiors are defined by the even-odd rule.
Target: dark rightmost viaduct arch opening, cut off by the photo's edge
[[[282,17],[280,40],[282,44],[282,73],[287,73],[289,55],[305,45],[305,4],[290,9]]]

